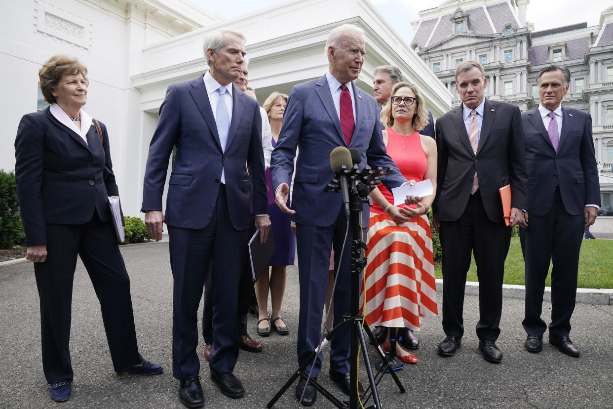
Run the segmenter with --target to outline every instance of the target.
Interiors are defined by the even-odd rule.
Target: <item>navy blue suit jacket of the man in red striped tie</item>
[[[394,167],[395,171],[384,181],[387,188],[402,185],[406,179],[386,153],[375,98],[353,83],[351,86],[356,100],[356,128],[349,148],[360,150],[362,166],[368,163],[372,167]],[[273,188],[281,183],[289,185],[299,148],[292,195],[292,208],[296,211],[292,219],[296,223],[326,227],[336,220],[341,194],[324,193],[324,186],[333,178],[330,152],[339,146],[346,147],[346,143],[326,75],[294,86],[270,169]]]

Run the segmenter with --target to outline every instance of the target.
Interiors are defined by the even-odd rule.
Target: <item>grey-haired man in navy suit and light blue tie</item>
[[[142,205],[151,237],[161,239],[164,221],[169,230],[173,375],[181,381],[179,398],[187,407],[204,405],[196,346],[205,280],[213,293],[211,379],[229,397],[245,394],[232,371],[238,358],[237,303],[249,196],[263,240],[270,228],[259,106],[232,83],[242,72],[245,37],[213,32],[204,52],[209,66],[204,76],[168,87],[149,148]],[[173,148],[164,216],[162,193]]]

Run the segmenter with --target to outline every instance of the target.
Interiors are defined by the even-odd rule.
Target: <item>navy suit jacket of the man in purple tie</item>
[[[522,113],[530,215],[549,213],[554,202],[556,180],[564,208],[571,215],[582,215],[587,204],[600,206],[592,117],[564,106],[562,115],[562,131],[556,152],[538,107]]]

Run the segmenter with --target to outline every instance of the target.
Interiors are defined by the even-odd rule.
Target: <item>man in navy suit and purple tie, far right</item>
[[[537,80],[541,103],[522,114],[530,198],[528,228],[520,229],[526,276],[522,324],[528,334],[524,346],[534,353],[543,350],[547,324],[541,310],[552,262],[549,343],[578,357],[568,334],[577,294],[579,249],[584,229],[594,223],[600,207],[592,117],[560,104],[571,81],[568,68],[544,67]]]

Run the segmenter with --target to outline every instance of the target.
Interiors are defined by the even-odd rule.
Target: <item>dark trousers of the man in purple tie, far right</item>
[[[529,216],[528,228],[520,229],[526,277],[525,318],[522,325],[528,335],[539,337],[547,329],[541,312],[545,279],[552,263],[549,332],[558,337],[568,337],[577,295],[579,250],[584,226],[584,215],[566,212],[560,191],[556,189],[549,213]]]

